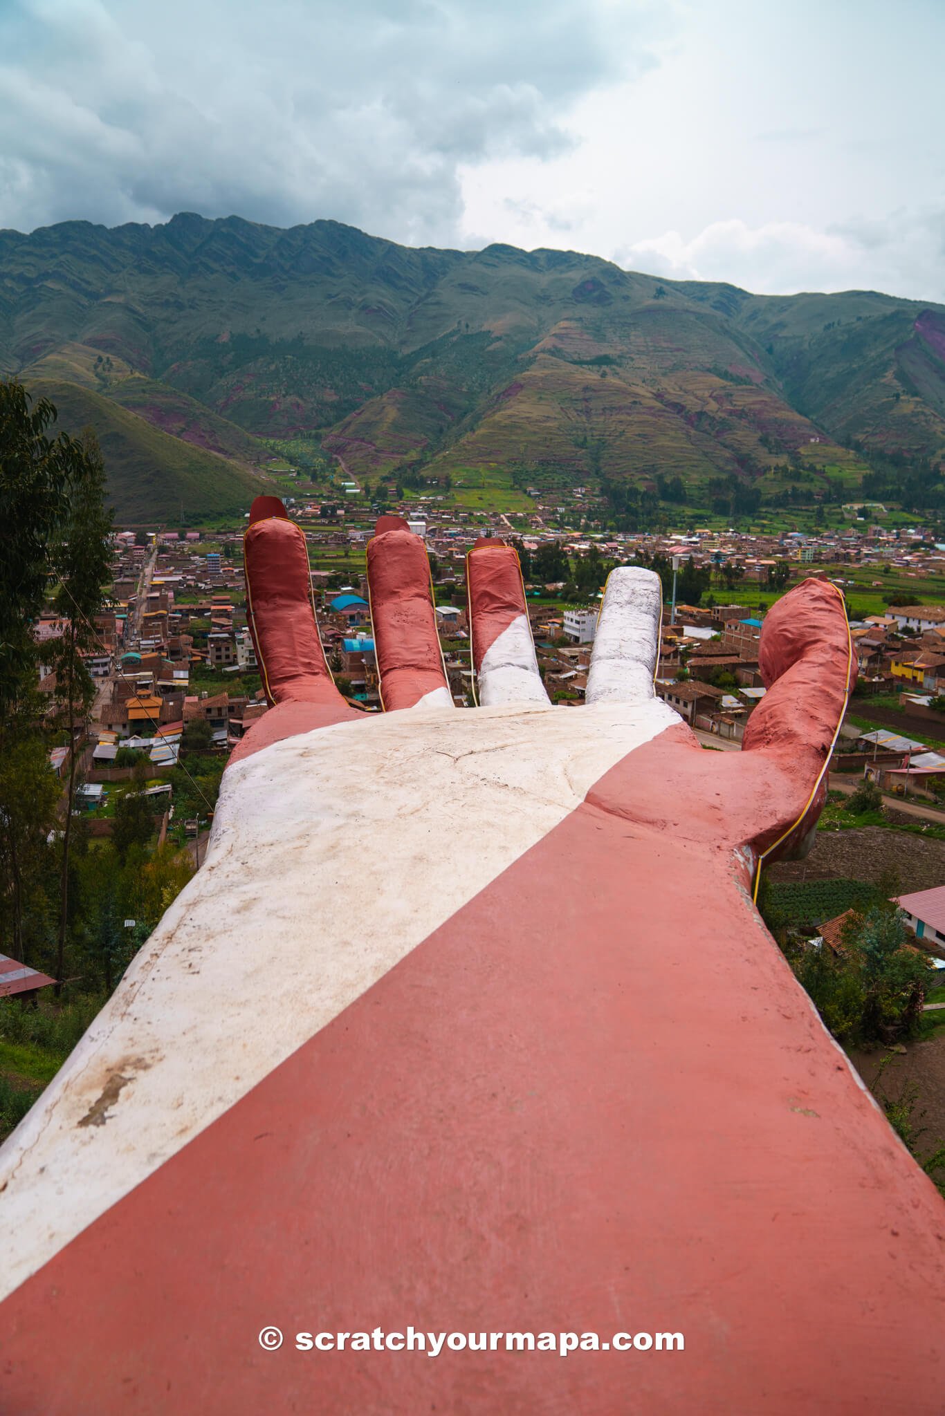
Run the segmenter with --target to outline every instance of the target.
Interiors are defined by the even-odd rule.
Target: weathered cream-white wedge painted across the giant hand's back
[[[679,721],[432,708],[231,766],[204,867],[0,1150],[0,1297]]]

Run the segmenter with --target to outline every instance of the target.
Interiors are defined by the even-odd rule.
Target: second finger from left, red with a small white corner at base
[[[401,517],[377,523],[367,586],[384,709],[452,708],[426,549]]]

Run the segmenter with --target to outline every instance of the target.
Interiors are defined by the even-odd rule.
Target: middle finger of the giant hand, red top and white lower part
[[[479,702],[547,704],[514,548],[476,541],[466,556],[466,585]]]

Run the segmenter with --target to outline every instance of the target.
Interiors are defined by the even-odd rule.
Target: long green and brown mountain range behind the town
[[[587,483],[619,507],[676,477],[706,506],[860,489],[945,504],[945,307],[874,292],[752,296],[333,221],[64,222],[0,232],[0,368],[160,429],[133,498],[153,514],[180,501],[170,446],[230,459],[186,463],[188,504],[205,483],[217,507],[245,498],[256,439],[320,445],[360,477],[514,483],[524,506],[527,486]],[[125,456],[122,496],[140,462]]]

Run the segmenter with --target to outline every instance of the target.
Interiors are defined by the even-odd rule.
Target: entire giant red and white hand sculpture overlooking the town
[[[647,572],[613,572],[587,705],[553,708],[514,552],[480,542],[462,712],[422,542],[383,518],[366,715],[278,501],[245,551],[273,707],[3,1153],[3,1410],[941,1410],[941,1199],[751,901],[816,821],[834,588],[772,609],[769,691],[718,753],[653,697]],[[408,1327],[686,1351],[293,1345]]]

